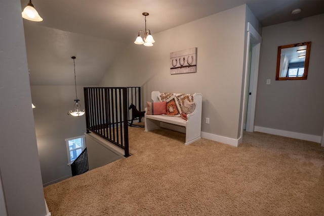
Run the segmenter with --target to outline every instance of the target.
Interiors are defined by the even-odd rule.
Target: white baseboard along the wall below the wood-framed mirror
[[[254,131],[320,143],[321,136],[254,126]]]

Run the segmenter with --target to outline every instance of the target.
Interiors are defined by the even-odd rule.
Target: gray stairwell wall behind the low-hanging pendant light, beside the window
[[[47,186],[71,177],[65,139],[84,135],[86,118],[67,115],[73,109],[74,86],[31,86],[31,95],[42,179]],[[84,109],[83,86],[77,86],[77,96]]]

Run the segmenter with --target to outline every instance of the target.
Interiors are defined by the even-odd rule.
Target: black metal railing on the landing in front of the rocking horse
[[[129,154],[128,88],[85,87],[87,133],[97,134]]]

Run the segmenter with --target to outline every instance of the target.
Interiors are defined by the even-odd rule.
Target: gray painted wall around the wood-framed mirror
[[[322,136],[323,26],[321,14],[262,29],[256,126]],[[312,42],[307,80],[275,81],[277,47],[304,41]]]

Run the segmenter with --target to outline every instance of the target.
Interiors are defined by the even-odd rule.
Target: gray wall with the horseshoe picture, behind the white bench
[[[246,6],[157,34],[154,46],[130,43],[100,86],[141,86],[142,106],[153,90],[203,94],[202,131],[238,137]],[[140,28],[140,26],[139,26]],[[135,40],[134,36],[134,40]],[[197,47],[197,73],[170,75],[170,52]],[[205,119],[210,118],[210,124]]]

